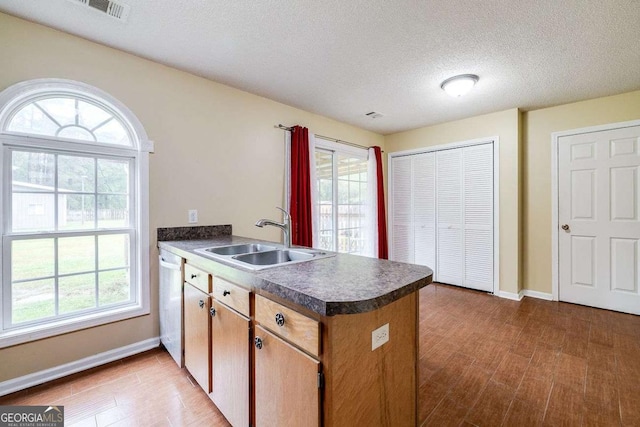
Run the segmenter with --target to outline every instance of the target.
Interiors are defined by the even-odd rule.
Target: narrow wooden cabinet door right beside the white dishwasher
[[[211,308],[209,295],[185,283],[184,366],[207,393],[211,391],[209,308]]]

